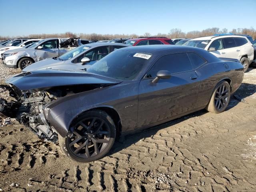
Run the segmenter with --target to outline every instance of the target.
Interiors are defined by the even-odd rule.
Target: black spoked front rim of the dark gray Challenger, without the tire
[[[72,154],[80,158],[91,158],[100,154],[109,144],[110,126],[98,117],[85,118],[74,126],[68,147]]]

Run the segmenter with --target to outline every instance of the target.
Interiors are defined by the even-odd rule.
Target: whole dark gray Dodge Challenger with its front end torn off
[[[39,138],[59,142],[78,162],[105,156],[121,134],[206,108],[223,112],[242,83],[238,60],[187,46],[122,48],[85,70],[37,70],[6,80],[14,117]]]

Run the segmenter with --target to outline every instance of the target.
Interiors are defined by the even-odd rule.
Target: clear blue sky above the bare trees
[[[0,0],[0,35],[256,28],[256,0]]]

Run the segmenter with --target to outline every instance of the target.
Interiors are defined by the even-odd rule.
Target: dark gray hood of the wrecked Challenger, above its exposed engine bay
[[[24,72],[6,80],[20,90],[45,90],[56,86],[83,84],[118,84],[121,80],[84,72],[82,70],[37,70]]]

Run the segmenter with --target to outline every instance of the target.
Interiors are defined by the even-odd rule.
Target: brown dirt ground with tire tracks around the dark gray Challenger
[[[221,114],[201,110],[126,136],[89,164],[66,158],[15,120],[2,122],[11,124],[0,127],[0,191],[255,192],[256,68],[236,95],[247,103],[232,96]]]

